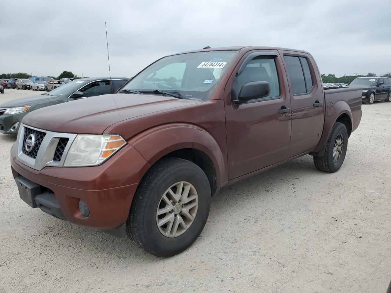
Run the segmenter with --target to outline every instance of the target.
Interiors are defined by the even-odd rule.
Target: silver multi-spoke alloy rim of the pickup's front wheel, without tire
[[[160,198],[156,210],[156,224],[166,237],[182,235],[194,222],[198,209],[198,194],[186,181],[172,184]]]

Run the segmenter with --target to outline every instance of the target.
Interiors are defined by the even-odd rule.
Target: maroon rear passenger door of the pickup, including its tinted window
[[[322,80],[312,56],[280,51],[289,79],[292,130],[289,157],[310,152],[318,144],[325,113]]]

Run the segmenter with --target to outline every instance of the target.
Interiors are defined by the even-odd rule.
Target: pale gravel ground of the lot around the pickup
[[[32,91],[7,90],[0,104]],[[212,199],[202,237],[169,259],[22,202],[0,134],[2,292],[385,292],[391,279],[391,104],[362,106],[339,172],[305,156]]]

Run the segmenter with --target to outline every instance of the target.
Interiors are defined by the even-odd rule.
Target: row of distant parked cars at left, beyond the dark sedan
[[[28,79],[1,79],[0,86],[9,89],[32,89],[38,91],[51,91],[63,84],[74,80],[71,77],[66,77],[60,80],[54,80],[52,77],[30,77]],[[1,89],[0,89],[1,90]],[[4,93],[4,89],[2,90]]]

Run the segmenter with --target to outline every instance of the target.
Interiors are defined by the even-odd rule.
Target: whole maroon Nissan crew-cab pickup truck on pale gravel
[[[308,52],[207,48],[27,114],[11,166],[31,207],[167,257],[197,239],[222,186],[307,154],[339,170],[360,120],[361,88],[323,91]]]

